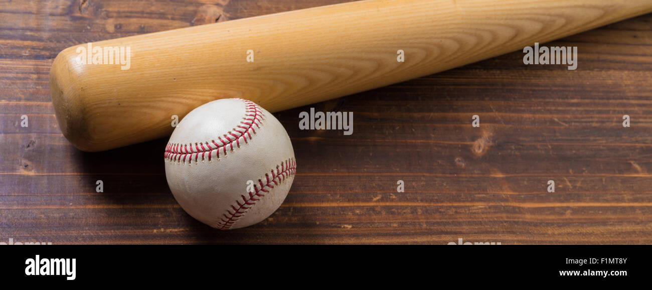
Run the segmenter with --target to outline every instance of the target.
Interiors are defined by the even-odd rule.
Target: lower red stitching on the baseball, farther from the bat
[[[233,226],[233,224],[235,224],[235,222],[237,222],[247,212],[248,209],[256,204],[256,201],[260,200],[257,197],[265,196],[265,194],[261,194],[260,192],[265,192],[266,194],[269,193],[268,189],[274,188],[274,185],[280,184],[280,182],[283,182],[290,175],[295,175],[296,171],[297,162],[295,162],[294,158],[291,158],[285,162],[281,162],[280,169],[278,166],[276,166],[276,173],[274,173],[274,169],[271,170],[271,180],[269,179],[269,173],[265,173],[265,181],[267,184],[263,184],[263,180],[259,179],[258,182],[260,184],[260,188],[254,184],[255,192],[248,192],[248,199],[244,196],[240,196],[243,200],[240,201],[237,199],[235,201],[237,207],[235,207],[235,205],[231,205],[232,210],[226,210],[228,214],[222,214],[224,218],[222,218],[222,222],[218,223],[218,229],[230,229],[231,226]],[[274,183],[274,185],[272,185],[272,183]]]

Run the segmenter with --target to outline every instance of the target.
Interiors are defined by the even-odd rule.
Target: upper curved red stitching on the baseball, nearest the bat
[[[244,121],[240,121],[240,124],[237,124],[235,128],[233,128],[232,131],[227,132],[227,134],[217,137],[217,140],[222,144],[218,144],[215,139],[211,140],[210,142],[205,141],[204,143],[168,143],[168,145],[166,145],[164,154],[165,159],[170,160],[171,162],[173,161],[185,163],[187,157],[188,162],[192,162],[192,160],[194,160],[194,162],[197,163],[199,161],[200,154],[201,161],[203,161],[205,160],[205,153],[208,153],[208,161],[211,162],[213,151],[216,151],[216,157],[220,158],[220,149],[222,149],[223,155],[226,155],[226,147],[229,147],[229,149],[233,151],[233,141],[235,141],[235,145],[237,147],[240,147],[240,138],[244,139],[244,143],[249,143],[247,138],[252,138],[250,131],[256,134],[254,125],[260,128],[261,124],[263,123],[262,120],[265,119],[265,115],[263,115],[261,108],[256,103],[250,100],[244,100],[242,98],[239,98],[238,100],[244,102]],[[222,139],[222,137],[228,141],[225,141]]]

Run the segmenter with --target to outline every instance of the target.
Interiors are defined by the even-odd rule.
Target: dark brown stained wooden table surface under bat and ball
[[[166,139],[87,153],[57,126],[48,73],[68,46],[337,2],[0,1],[0,242],[652,243],[652,14],[548,44],[578,46],[577,70],[526,66],[516,51],[276,113],[297,176],[282,207],[244,229],[216,231],[177,205]],[[299,130],[310,107],[353,111],[353,135]],[[151,145],[160,152],[140,150]]]

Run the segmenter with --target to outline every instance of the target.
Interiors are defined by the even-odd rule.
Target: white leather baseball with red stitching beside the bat
[[[254,102],[237,98],[188,113],[170,137],[165,161],[179,205],[217,229],[265,220],[288,195],[296,168],[282,124]]]

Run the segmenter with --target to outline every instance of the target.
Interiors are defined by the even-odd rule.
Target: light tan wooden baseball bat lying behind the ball
[[[357,1],[72,46],[50,91],[66,138],[102,151],[167,136],[172,115],[211,100],[280,111],[648,12],[650,0]]]

